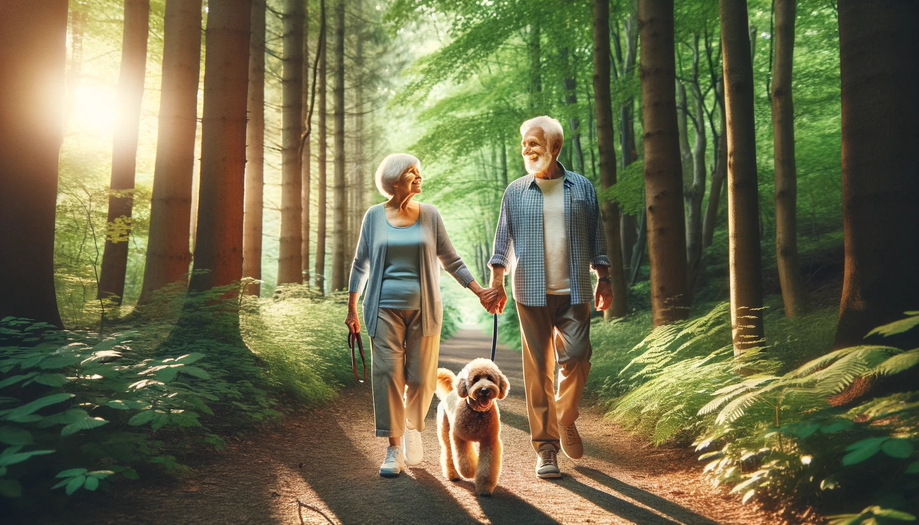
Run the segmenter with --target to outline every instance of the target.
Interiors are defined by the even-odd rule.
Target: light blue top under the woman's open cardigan
[[[421,310],[421,226],[397,228],[386,223],[386,260],[380,287],[380,308]]]

